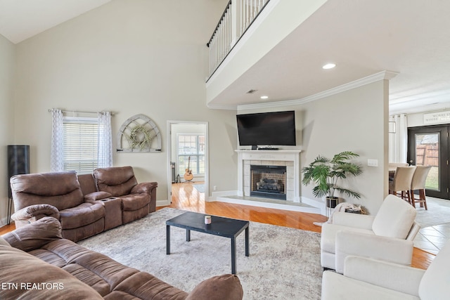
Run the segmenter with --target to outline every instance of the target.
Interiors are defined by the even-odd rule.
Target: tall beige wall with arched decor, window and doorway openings
[[[18,143],[31,145],[31,171],[50,169],[52,107],[111,110],[114,143],[122,123],[136,114],[162,133],[160,153],[115,153],[138,181],[158,181],[167,200],[168,119],[209,122],[210,185],[235,188],[233,111],[206,107],[210,34],[226,0],[117,0],[17,45],[15,127]],[[232,134],[231,134],[232,133]]]

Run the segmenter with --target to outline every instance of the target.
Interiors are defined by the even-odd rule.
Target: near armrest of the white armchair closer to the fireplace
[[[413,241],[340,230],[336,234],[336,272],[343,273],[344,261],[349,255],[411,266]]]

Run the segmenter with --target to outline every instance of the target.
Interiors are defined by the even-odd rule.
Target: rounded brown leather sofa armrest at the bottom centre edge
[[[243,295],[238,276],[224,274],[200,282],[186,300],[242,300]]]

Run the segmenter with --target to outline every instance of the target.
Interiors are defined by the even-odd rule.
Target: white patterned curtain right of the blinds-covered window
[[[111,112],[98,112],[98,168],[113,167]]]

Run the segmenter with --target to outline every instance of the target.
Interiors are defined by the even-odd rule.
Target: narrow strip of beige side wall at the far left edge
[[[13,80],[15,46],[0,34],[0,225],[8,216],[8,147],[14,143]]]

